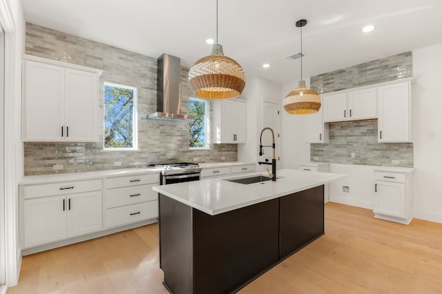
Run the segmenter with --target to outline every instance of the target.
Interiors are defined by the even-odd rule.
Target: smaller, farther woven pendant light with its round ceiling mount
[[[302,27],[307,25],[305,19],[296,21],[296,27],[301,30],[301,80],[298,88],[284,98],[284,109],[289,114],[314,114],[320,109],[319,94],[309,89],[302,80]]]

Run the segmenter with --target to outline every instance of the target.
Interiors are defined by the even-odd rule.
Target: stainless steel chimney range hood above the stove
[[[157,120],[192,120],[180,114],[181,63],[178,57],[162,54],[157,59],[157,112],[147,118]]]

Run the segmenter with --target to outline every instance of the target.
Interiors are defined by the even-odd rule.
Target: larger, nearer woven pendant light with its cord
[[[189,85],[195,96],[205,99],[231,99],[240,96],[246,85],[241,65],[224,56],[218,44],[218,0],[216,1],[216,43],[212,54],[195,62],[189,70]]]

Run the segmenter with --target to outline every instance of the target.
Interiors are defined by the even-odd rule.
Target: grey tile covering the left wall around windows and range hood
[[[103,121],[103,83],[130,85],[138,89],[138,150],[104,151],[97,143],[24,143],[25,176],[127,167],[151,163],[235,161],[236,144],[211,144],[207,150],[189,149],[189,123],[148,120],[157,109],[157,59],[87,39],[26,23],[26,54],[75,63],[103,70],[99,78],[99,121]],[[189,69],[182,67],[181,112],[189,111],[192,92],[187,82]],[[100,134],[103,134],[103,124]],[[114,166],[114,162],[122,162]],[[62,165],[53,170],[54,165]]]

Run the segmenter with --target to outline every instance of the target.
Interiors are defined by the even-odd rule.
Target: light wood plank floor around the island
[[[151,224],[28,255],[8,293],[167,293],[157,235]],[[442,224],[327,203],[325,235],[240,293],[442,293]]]

